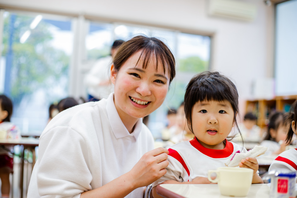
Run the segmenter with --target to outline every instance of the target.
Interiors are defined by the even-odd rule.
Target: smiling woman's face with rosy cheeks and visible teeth
[[[168,71],[162,65],[156,71],[156,59],[151,58],[146,69],[142,68],[141,51],[136,52],[118,71],[111,66],[110,78],[114,84],[114,103],[122,121],[137,120],[156,110],[163,103],[168,87]]]

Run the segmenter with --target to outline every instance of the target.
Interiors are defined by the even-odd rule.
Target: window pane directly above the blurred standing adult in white
[[[95,23],[89,25],[86,36],[87,59],[94,60],[110,55],[110,46],[113,43],[113,24]]]

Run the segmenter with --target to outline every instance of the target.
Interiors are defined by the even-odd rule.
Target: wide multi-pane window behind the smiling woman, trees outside
[[[157,37],[176,58],[176,78],[163,105],[149,116],[155,138],[166,125],[168,108],[178,108],[196,73],[208,70],[211,38],[151,26],[111,23],[33,12],[4,15],[0,93],[13,100],[12,122],[22,134],[40,135],[51,103],[71,96],[87,98],[83,77],[93,63],[110,55],[114,40],[145,34]]]

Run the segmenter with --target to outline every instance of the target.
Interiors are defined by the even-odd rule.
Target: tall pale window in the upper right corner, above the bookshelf
[[[275,9],[275,94],[296,95],[297,0]]]

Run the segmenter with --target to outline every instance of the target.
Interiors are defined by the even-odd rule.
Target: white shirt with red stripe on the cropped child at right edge
[[[269,170],[278,172],[297,171],[297,149],[290,149],[282,152],[272,161]]]

